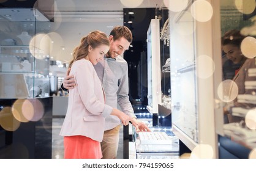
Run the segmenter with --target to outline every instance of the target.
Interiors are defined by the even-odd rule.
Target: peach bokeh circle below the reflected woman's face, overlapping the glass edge
[[[220,100],[224,102],[233,101],[238,96],[238,85],[236,85],[236,82],[231,79],[226,79],[220,82],[217,94]]]

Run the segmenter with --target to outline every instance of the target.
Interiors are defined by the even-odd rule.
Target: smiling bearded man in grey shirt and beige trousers
[[[126,26],[116,26],[110,32],[110,49],[103,61],[94,65],[97,75],[102,81],[105,90],[106,103],[111,107],[121,107],[122,111],[136,120],[137,131],[150,131],[145,123],[138,122],[129,101],[128,66],[126,60],[120,55],[129,49],[132,42],[132,32]],[[62,89],[72,89],[75,86],[73,76],[67,76],[62,84]],[[85,85],[86,86],[86,85]],[[105,159],[115,159],[118,151],[119,129],[121,122],[118,117],[105,118],[104,137],[101,142],[102,155]]]

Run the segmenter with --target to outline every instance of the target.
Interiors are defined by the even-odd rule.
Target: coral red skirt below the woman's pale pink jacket
[[[102,151],[100,142],[85,136],[64,137],[65,159],[100,159]]]

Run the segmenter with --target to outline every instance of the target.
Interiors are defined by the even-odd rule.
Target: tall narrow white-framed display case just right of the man
[[[152,19],[147,32],[148,42],[148,106],[153,114],[153,126],[171,126],[170,54],[166,43],[160,41],[160,27],[167,21],[168,10],[160,19]],[[165,45],[164,45],[165,44]],[[166,61],[165,61],[166,60]],[[160,66],[167,68],[162,70]],[[164,66],[164,67],[165,67]],[[159,118],[165,118],[165,123]]]

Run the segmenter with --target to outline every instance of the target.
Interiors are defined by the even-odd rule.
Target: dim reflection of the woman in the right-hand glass
[[[255,59],[248,59],[245,57],[241,51],[241,43],[244,40],[245,36],[240,34],[238,30],[230,30],[225,33],[222,37],[222,50],[228,59],[232,60],[234,64],[239,64],[240,67],[235,71],[235,76],[233,81],[238,85],[238,94],[251,94],[254,92],[254,89],[245,89],[244,83],[246,81],[255,81],[255,77],[248,76],[249,68],[255,68]],[[254,104],[249,103],[238,103],[237,99],[232,101],[233,106],[235,107],[254,107]],[[230,104],[228,104],[230,106]],[[227,109],[224,107],[224,114],[228,115],[228,122],[239,122],[244,118],[234,117],[230,115]]]

